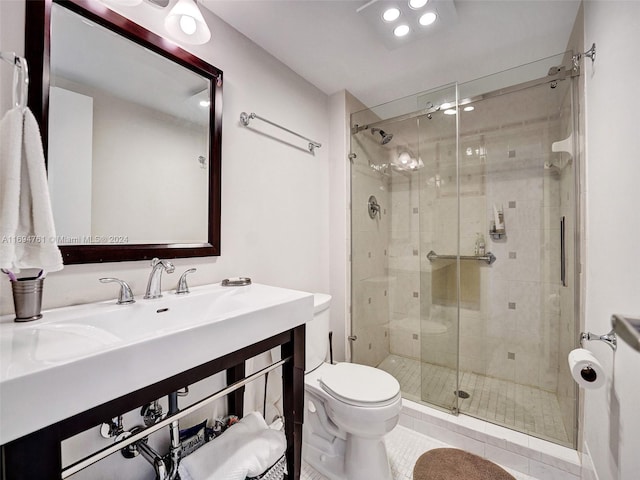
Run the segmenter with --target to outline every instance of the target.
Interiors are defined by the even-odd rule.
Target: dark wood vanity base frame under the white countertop
[[[289,479],[298,480],[302,462],[304,341],[303,324],[9,442],[2,446],[2,479],[60,480],[61,443],[65,439],[216,373],[226,371],[231,383],[240,380],[245,375],[246,360],[280,346],[282,358],[287,359],[282,367],[287,471]],[[227,397],[230,412],[242,414],[243,394],[244,388],[240,388]]]

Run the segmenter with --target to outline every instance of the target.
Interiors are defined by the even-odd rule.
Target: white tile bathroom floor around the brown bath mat
[[[414,432],[408,428],[397,426],[385,437],[389,463],[393,480],[412,480],[413,467],[418,457],[433,448],[449,447],[446,443]],[[504,468],[504,467],[503,467]],[[536,480],[536,478],[513,469],[505,468],[516,480]],[[302,480],[327,480],[307,463],[302,463]]]

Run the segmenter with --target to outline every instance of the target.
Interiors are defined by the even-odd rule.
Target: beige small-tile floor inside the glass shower
[[[455,406],[456,371],[453,369],[430,363],[421,365],[418,360],[398,355],[389,355],[378,368],[398,380],[403,396],[409,400],[422,401],[422,386],[429,403],[446,409]],[[461,413],[572,446],[553,393],[471,372],[460,372],[459,388],[469,394],[469,398],[459,398]]]

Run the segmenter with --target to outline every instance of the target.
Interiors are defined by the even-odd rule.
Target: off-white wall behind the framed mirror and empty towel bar
[[[0,2],[0,8],[0,48],[21,53],[24,2]],[[172,288],[182,271],[197,267],[190,277],[192,285],[243,275],[255,282],[328,292],[327,97],[218,17],[202,11],[212,39],[188,49],[224,72],[222,255],[175,260],[176,274],[166,276],[163,287]],[[146,2],[128,12],[132,20],[149,28],[162,23],[157,18],[162,12]],[[5,24],[11,28],[5,29]],[[10,96],[11,83],[3,82],[3,113]],[[242,111],[254,111],[324,146],[310,155],[304,141],[267,130],[264,123],[255,121],[251,129],[244,128],[238,120]],[[148,262],[66,266],[47,277],[44,308],[115,299],[116,290],[98,282],[104,276],[126,280],[139,296],[149,271]],[[0,282],[0,313],[12,309],[8,282]]]

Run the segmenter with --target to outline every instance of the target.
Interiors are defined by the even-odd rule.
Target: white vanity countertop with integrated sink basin
[[[0,317],[0,445],[313,318],[313,295],[266,285],[191,289]]]

